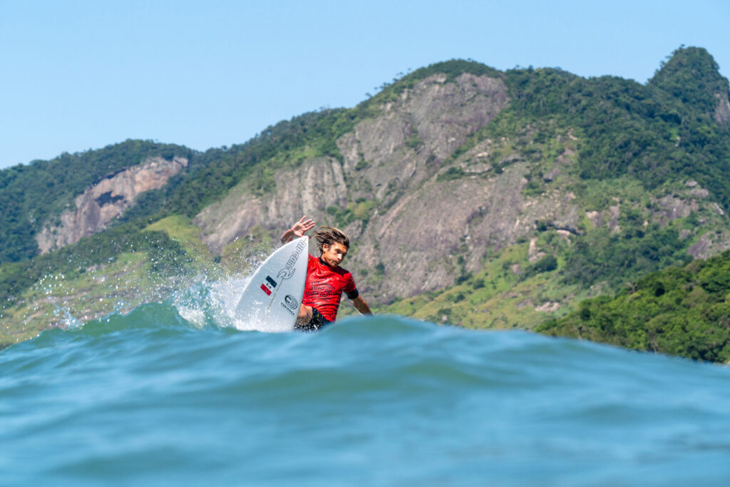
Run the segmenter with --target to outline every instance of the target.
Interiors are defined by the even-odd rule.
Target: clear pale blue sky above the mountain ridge
[[[245,142],[451,58],[641,83],[680,45],[730,74],[729,1],[0,0],[0,167]]]

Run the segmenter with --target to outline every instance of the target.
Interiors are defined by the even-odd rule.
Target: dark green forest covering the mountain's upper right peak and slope
[[[631,175],[646,188],[694,177],[730,207],[730,128],[712,120],[728,81],[706,50],[682,48],[647,85],[618,77],[583,79],[559,69],[507,72],[512,110],[556,117],[585,134],[580,175]]]

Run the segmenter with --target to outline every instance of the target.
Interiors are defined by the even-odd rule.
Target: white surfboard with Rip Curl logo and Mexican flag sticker
[[[248,281],[236,307],[237,328],[294,329],[307,281],[309,237],[293,239],[266,258]]]

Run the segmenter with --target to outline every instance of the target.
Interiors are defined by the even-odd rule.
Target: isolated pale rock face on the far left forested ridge
[[[58,223],[46,223],[36,235],[41,253],[78,242],[107,228],[107,223],[134,204],[139,193],[159,189],[188,166],[188,159],[148,158],[139,166],[104,177],[74,200],[74,210],[61,213]]]

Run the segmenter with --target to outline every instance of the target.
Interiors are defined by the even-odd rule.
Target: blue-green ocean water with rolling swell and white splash
[[[201,289],[2,350],[0,484],[730,485],[728,367]]]

